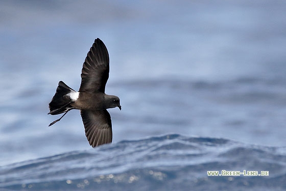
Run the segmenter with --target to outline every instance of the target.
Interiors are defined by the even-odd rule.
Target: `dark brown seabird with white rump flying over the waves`
[[[105,94],[108,76],[109,55],[103,41],[97,38],[83,63],[79,91],[69,88],[60,81],[56,94],[49,103],[48,114],[51,115],[64,113],[64,116],[70,110],[80,110],[85,135],[92,147],[112,141],[111,118],[106,109],[118,107],[121,110],[120,99]]]

